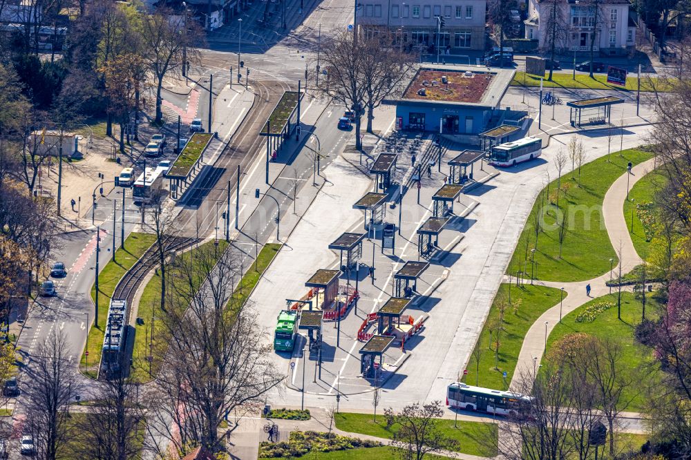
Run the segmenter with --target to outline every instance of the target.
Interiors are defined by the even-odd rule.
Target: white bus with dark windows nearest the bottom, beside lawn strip
[[[531,398],[513,392],[451,383],[446,388],[446,405],[495,415],[526,416],[530,412]]]

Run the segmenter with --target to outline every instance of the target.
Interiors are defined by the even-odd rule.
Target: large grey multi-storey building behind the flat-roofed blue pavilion
[[[408,49],[436,52],[437,17],[444,18],[439,34],[442,55],[484,50],[485,0],[363,0],[358,26],[368,32],[388,28]],[[402,39],[402,43],[399,41]]]

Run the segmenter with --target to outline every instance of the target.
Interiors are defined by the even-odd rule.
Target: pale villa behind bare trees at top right
[[[590,52],[595,34],[596,55],[627,55],[636,42],[636,15],[630,6],[629,0],[529,0],[525,38],[537,39],[538,47],[547,50],[554,30],[549,24],[556,17],[559,53]]]

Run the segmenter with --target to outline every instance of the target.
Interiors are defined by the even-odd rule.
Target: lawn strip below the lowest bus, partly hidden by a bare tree
[[[383,415],[377,416],[375,422],[372,421],[372,414],[339,412],[334,415],[334,422],[339,430],[385,439],[392,439],[399,429],[398,425],[387,429]],[[495,423],[457,421],[455,427],[453,420],[439,419],[438,426],[440,432],[458,441],[458,452],[480,457],[494,457],[497,454],[495,449],[489,447],[498,442],[498,427]]]

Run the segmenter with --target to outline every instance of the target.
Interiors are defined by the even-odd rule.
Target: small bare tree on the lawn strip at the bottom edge
[[[391,425],[399,425],[391,445],[403,459],[422,460],[426,454],[455,450],[458,441],[451,439],[439,427],[439,419],[444,415],[441,401],[428,404],[406,405],[401,412],[393,414]]]

